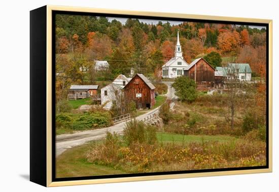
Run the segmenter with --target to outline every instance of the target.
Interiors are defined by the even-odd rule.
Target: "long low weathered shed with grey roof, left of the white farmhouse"
[[[98,85],[71,85],[68,100],[96,97]]]

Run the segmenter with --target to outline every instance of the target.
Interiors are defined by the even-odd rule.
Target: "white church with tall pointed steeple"
[[[169,61],[167,61],[162,66],[162,77],[176,78],[182,76],[187,66],[189,66],[189,64],[183,59],[182,49],[179,42],[179,31],[178,31],[175,56],[169,59]]]

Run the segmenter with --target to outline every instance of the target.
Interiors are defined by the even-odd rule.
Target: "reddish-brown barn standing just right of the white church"
[[[198,87],[209,88],[214,86],[215,69],[203,58],[193,60],[184,70],[184,76],[193,79]]]

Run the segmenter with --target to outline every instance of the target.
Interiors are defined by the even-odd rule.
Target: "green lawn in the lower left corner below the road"
[[[90,149],[92,143],[87,143],[66,150],[56,158],[56,177],[82,177],[94,175],[125,174],[106,166],[93,165],[86,161],[85,152]]]

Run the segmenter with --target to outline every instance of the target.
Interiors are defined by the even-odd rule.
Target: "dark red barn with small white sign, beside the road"
[[[155,105],[155,86],[143,75],[136,74],[124,87],[127,101],[134,101],[136,108],[152,108]]]

